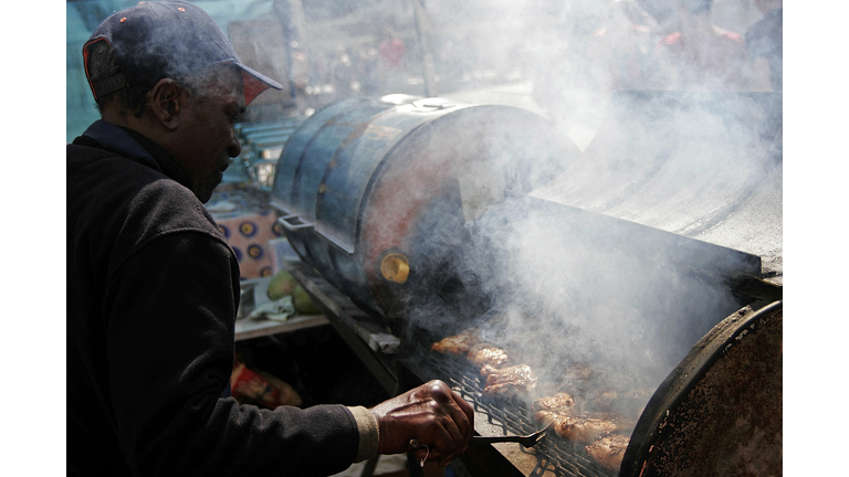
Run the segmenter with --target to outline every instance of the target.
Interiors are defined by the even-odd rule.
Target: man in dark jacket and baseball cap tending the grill
[[[140,2],[83,49],[102,114],[67,146],[70,475],[327,475],[407,451],[441,465],[472,435],[434,381],[370,410],[229,398],[239,265],[202,203],[233,124],[276,82],[187,2]]]

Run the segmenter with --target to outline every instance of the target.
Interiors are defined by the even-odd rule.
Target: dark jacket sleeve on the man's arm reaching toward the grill
[[[238,282],[230,248],[197,231],[144,244],[113,274],[103,311],[114,425],[135,475],[317,476],[357,457],[345,406],[270,411],[221,398]]]

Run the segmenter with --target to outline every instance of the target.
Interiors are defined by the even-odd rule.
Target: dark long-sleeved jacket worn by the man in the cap
[[[326,475],[359,434],[342,405],[221,398],[239,264],[187,173],[97,121],[67,146],[70,475]]]

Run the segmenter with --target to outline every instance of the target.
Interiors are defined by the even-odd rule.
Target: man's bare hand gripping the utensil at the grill
[[[431,381],[370,411],[377,417],[380,454],[410,449],[410,439],[422,446],[419,459],[439,460],[442,467],[465,451],[474,431],[474,411],[442,381]],[[426,457],[427,456],[427,457]]]

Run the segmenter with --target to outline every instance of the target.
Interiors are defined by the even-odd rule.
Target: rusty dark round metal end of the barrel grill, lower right
[[[620,476],[780,476],[782,303],[716,326],[646,406]]]

